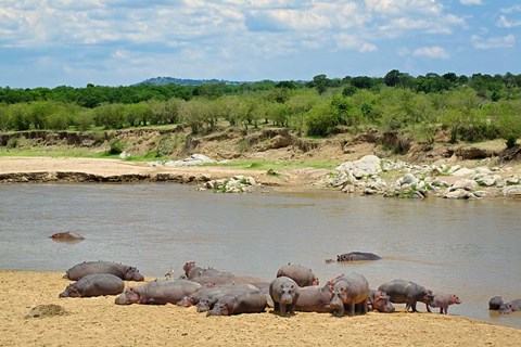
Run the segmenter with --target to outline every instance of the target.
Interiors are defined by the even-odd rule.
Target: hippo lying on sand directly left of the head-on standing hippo
[[[231,316],[241,313],[260,313],[266,310],[266,295],[258,291],[228,294],[214,304],[207,316]]]

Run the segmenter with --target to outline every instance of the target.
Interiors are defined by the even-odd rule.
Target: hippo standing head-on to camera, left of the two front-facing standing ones
[[[269,284],[269,296],[274,300],[274,311],[280,316],[295,313],[295,305],[298,301],[300,287],[296,282],[285,275],[278,277]]]

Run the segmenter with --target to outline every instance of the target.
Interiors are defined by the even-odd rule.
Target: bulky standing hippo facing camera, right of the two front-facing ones
[[[328,282],[332,297],[329,303],[333,314],[344,316],[345,308],[348,316],[355,316],[355,309],[361,314],[367,313],[367,299],[369,297],[369,282],[359,273],[341,274]]]

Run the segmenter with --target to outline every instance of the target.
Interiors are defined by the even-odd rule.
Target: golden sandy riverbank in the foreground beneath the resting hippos
[[[114,296],[58,298],[62,272],[0,271],[1,346],[518,346],[521,330],[437,313],[354,318],[297,312],[206,317],[174,305],[118,306]],[[151,279],[148,279],[151,280]],[[135,283],[128,282],[127,285]],[[38,305],[66,314],[26,318]]]

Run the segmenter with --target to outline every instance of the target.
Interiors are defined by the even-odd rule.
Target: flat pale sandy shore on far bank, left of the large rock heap
[[[303,190],[327,175],[327,169],[284,169],[278,176],[266,170],[214,166],[150,166],[147,163],[120,159],[1,157],[0,182],[203,182],[236,175],[251,176],[265,185]]]

